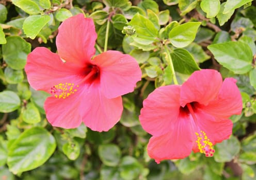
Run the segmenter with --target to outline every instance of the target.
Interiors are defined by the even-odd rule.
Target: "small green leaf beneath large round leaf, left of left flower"
[[[9,84],[17,84],[24,79],[23,70],[14,70],[10,67],[5,68],[5,79]]]

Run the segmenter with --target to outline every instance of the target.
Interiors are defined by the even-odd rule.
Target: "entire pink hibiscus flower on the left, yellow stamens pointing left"
[[[96,39],[93,21],[78,14],[59,26],[58,54],[37,47],[27,57],[29,84],[52,95],[44,109],[55,127],[76,128],[83,121],[91,130],[108,131],[121,117],[121,95],[141,80],[130,55],[109,50],[93,57]]]

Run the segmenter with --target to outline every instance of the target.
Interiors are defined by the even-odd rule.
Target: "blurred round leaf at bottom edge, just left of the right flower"
[[[120,175],[124,180],[138,179],[143,170],[138,160],[132,156],[124,156],[120,163]]]

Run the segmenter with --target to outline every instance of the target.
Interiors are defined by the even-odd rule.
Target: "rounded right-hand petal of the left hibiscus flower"
[[[92,63],[100,67],[101,91],[107,98],[133,92],[136,83],[141,80],[137,61],[119,51],[103,52]]]

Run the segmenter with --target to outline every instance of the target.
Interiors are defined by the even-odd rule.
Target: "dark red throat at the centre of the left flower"
[[[84,70],[85,77],[83,82],[92,83],[99,79],[100,68],[97,65],[89,64]]]

